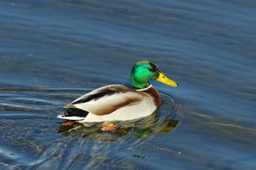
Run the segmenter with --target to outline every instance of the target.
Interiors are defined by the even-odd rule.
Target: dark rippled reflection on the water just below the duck
[[[111,122],[117,125],[116,131],[102,131],[102,123],[72,125],[60,125],[59,134],[81,133],[83,138],[92,138],[99,142],[116,142],[123,136],[132,132],[139,139],[144,139],[154,133],[169,133],[178,125],[178,120],[169,117],[160,118],[159,112],[154,112],[148,117],[139,120],[129,120],[124,122]]]

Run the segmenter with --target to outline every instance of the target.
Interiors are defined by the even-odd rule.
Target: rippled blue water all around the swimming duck
[[[256,169],[255,1],[0,1],[0,169]],[[137,61],[151,117],[60,128],[56,116]]]

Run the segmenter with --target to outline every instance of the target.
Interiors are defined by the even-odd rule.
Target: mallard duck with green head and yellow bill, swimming
[[[124,85],[98,88],[67,104],[58,117],[78,123],[134,120],[151,115],[161,104],[161,96],[150,80],[178,87],[150,61],[135,63],[130,79],[133,89]]]

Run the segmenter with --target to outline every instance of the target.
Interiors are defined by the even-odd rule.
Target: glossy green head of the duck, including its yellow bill
[[[165,85],[178,87],[176,82],[168,79],[159,71],[157,64],[150,61],[139,61],[136,63],[131,72],[132,87],[137,89],[148,88],[150,80],[157,80]]]

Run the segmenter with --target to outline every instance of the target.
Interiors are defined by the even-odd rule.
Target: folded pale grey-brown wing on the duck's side
[[[108,115],[121,107],[140,104],[143,93],[124,85],[108,85],[87,93],[67,104],[65,109],[82,109],[94,115]]]

